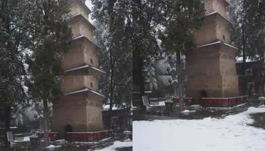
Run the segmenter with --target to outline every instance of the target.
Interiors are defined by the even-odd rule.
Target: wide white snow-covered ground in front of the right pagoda
[[[224,119],[133,122],[133,151],[265,151],[265,130],[248,126],[250,107]]]

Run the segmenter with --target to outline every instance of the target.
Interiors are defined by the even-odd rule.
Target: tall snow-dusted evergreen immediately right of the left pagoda
[[[130,37],[128,2],[128,0],[92,0],[94,17],[98,19],[100,25],[96,30],[96,39],[102,47],[100,63],[107,72],[101,85],[105,84],[106,87],[110,117],[113,105],[128,110],[131,107],[132,52],[128,40]],[[109,124],[111,127],[111,121]]]

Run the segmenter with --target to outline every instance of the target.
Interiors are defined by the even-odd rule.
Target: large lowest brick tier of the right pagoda
[[[235,50],[217,44],[201,47],[186,57],[188,78],[186,93],[200,101],[200,91],[207,91],[207,97],[234,97],[238,95]]]

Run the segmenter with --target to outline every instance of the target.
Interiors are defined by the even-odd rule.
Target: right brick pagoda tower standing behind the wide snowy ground
[[[186,54],[186,93],[196,103],[203,97],[238,96],[237,48],[230,45],[228,5],[226,0],[206,0],[206,17],[195,36],[197,49]]]

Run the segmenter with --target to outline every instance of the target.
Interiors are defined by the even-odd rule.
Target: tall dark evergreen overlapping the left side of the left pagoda
[[[48,142],[48,102],[60,95],[63,55],[72,38],[68,24],[72,0],[32,0],[32,34],[34,48],[28,57],[29,93],[36,101],[43,101],[45,146]]]

